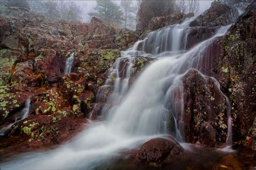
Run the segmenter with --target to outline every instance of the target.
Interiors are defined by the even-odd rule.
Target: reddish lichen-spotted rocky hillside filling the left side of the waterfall
[[[77,134],[108,70],[138,35],[92,18],[52,22],[22,8],[1,7],[0,129],[15,122],[31,97],[29,117],[0,137],[1,154],[63,143]],[[71,73],[65,62],[74,52]],[[72,135],[71,135],[72,134]]]

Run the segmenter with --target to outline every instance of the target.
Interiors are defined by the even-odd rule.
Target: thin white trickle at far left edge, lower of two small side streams
[[[22,121],[23,119],[27,118],[29,116],[29,108],[30,108],[30,102],[31,102],[31,97],[29,97],[28,100],[26,100],[25,107],[22,109],[21,112],[19,112],[15,118],[15,122],[9,124],[8,126],[4,126],[0,130],[0,136],[4,136],[6,132],[11,128],[12,125],[16,124],[19,121]]]

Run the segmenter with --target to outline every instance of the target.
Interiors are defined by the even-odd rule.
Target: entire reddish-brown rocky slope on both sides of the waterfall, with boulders
[[[220,26],[235,22],[225,36],[206,48],[207,60],[200,72],[207,76],[193,69],[184,76],[186,119],[179,126],[183,127],[181,135],[188,143],[225,145],[228,109],[225,94],[231,102],[234,148],[255,150],[255,3],[238,19],[237,15],[234,8],[214,2],[190,25],[186,49],[210,38]],[[149,30],[186,18],[179,16],[153,18]],[[1,138],[1,154],[63,143],[87,125],[86,118],[93,108],[93,118],[97,118],[112,93],[112,86],[102,91],[104,100],[95,107],[99,87],[110,78],[109,69],[120,56],[120,49],[139,38],[132,31],[115,30],[97,18],[90,23],[53,23],[17,8],[5,9],[0,22],[3,23],[0,25],[0,128],[15,121],[32,95],[29,117],[12,126]],[[72,73],[64,75],[65,61],[72,52],[75,52]],[[129,83],[151,60],[136,58]],[[126,63],[125,59],[120,62],[121,78],[125,76]],[[210,69],[205,70],[205,66]],[[219,81],[222,92],[208,76]],[[156,150],[158,154],[154,154]],[[156,139],[135,151],[132,159],[161,164],[182,153],[174,139]]]

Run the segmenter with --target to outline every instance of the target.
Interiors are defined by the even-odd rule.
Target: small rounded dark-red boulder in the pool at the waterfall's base
[[[163,164],[173,161],[177,155],[183,154],[183,148],[172,137],[155,138],[142,145],[134,153],[134,158],[140,162]]]

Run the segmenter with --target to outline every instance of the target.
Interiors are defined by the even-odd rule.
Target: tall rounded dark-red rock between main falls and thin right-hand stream
[[[216,141],[225,143],[227,137],[226,98],[214,80],[191,69],[184,76],[183,82],[185,110],[184,121],[179,126],[185,141],[188,143],[200,141],[203,145],[213,147]],[[206,136],[208,136],[207,142]]]

